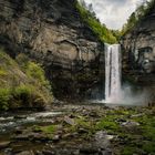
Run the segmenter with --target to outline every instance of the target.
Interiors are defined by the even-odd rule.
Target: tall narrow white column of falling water
[[[121,46],[105,44],[105,102],[121,99]]]

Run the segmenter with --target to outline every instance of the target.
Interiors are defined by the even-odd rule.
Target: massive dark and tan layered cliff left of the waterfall
[[[87,92],[99,81],[103,50],[75,0],[0,0],[0,44],[41,62],[55,96]],[[102,62],[101,62],[102,63]]]

